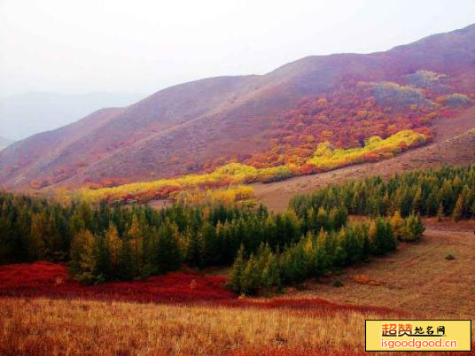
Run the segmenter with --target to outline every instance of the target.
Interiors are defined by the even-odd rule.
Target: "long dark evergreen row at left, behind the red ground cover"
[[[134,279],[191,267],[230,265],[239,246],[272,251],[300,236],[347,223],[345,209],[319,209],[300,219],[291,211],[225,205],[60,205],[0,193],[0,262],[65,261],[83,282]]]

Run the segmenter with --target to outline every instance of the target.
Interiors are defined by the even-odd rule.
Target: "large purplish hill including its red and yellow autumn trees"
[[[418,144],[431,142],[438,139],[432,120],[451,120],[475,100],[474,35],[471,25],[385,52],[310,56],[268,74],[163,89],[1,151],[0,186],[110,187],[206,174],[229,163],[311,174],[335,167],[321,161],[318,147],[339,156],[407,130],[422,135]],[[381,156],[391,155],[339,159]]]

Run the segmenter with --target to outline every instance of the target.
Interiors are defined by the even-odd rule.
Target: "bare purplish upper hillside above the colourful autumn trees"
[[[417,81],[430,88],[411,89],[387,81],[401,85]],[[367,104],[360,100],[361,108],[355,108],[352,103],[358,97],[354,101],[347,94],[359,95],[361,90],[372,95],[367,101],[376,100],[380,112],[392,112],[385,122],[387,133],[400,116],[418,118],[417,110],[422,115],[428,106],[439,105],[433,100],[445,95],[447,88],[463,93],[450,100],[471,103],[475,25],[385,52],[302,58],[269,74],[209,78],[160,90],[126,108],[95,112],[65,128],[14,143],[0,153],[0,185],[77,186],[111,177],[134,182],[197,172],[222,158],[246,159],[269,151],[276,127],[295,134],[319,120],[331,124],[335,112],[342,110],[353,118]],[[391,102],[394,90],[397,102]],[[308,97],[333,97],[332,112],[320,119],[318,108],[301,106]],[[347,100],[339,105],[341,97]],[[401,105],[405,106],[398,114]],[[284,112],[295,108],[311,122],[302,119],[300,127],[289,127],[292,115]],[[378,120],[363,117],[354,122],[364,128]],[[345,120],[339,125],[345,127]]]

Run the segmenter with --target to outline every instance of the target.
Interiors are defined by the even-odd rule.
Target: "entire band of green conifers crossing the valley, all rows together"
[[[421,238],[421,215],[475,215],[475,166],[374,177],[263,205],[70,205],[3,193],[3,262],[67,263],[80,282],[144,279],[183,266],[230,266],[229,288],[278,292]],[[348,221],[349,215],[368,221]]]

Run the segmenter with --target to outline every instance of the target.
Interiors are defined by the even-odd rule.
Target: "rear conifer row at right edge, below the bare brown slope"
[[[342,206],[348,213],[390,216],[400,212],[425,216],[475,216],[475,165],[395,174],[384,181],[375,176],[365,180],[330,185],[310,195],[292,198],[290,208],[300,218],[320,208]]]

